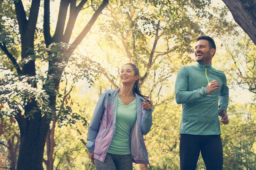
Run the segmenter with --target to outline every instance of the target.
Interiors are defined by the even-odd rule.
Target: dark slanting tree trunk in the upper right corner
[[[222,0],[232,13],[236,23],[243,28],[256,45],[256,1]]]

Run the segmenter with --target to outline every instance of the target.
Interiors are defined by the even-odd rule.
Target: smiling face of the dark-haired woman
[[[135,75],[132,66],[126,64],[122,67],[120,79],[123,84],[134,84],[139,79],[139,75]]]

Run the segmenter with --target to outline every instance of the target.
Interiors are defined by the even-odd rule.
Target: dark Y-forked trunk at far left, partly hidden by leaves
[[[21,0],[14,1],[16,17],[19,24],[21,39],[21,59],[27,59],[33,54],[34,49],[34,33],[36,29],[40,0],[32,0],[29,17],[26,13]],[[34,76],[36,75],[35,60],[29,60],[22,66],[22,74]],[[31,86],[36,88],[33,82]],[[43,156],[45,138],[49,129],[49,122],[46,117],[42,117],[41,111],[38,109],[35,100],[25,105],[25,115],[31,110],[36,109],[33,117],[25,118],[18,114],[16,118],[20,127],[20,151],[17,162],[17,170],[27,169],[43,169]]]

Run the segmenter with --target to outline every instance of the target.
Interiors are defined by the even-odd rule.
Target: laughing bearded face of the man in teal
[[[195,57],[199,64],[210,64],[215,49],[210,49],[209,41],[206,39],[200,39],[196,42],[195,46]]]

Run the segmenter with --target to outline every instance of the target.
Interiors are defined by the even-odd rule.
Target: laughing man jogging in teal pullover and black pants
[[[225,74],[212,67],[216,51],[208,36],[196,38],[194,66],[181,67],[175,82],[175,98],[182,104],[180,169],[196,169],[201,151],[206,169],[222,169],[220,122],[228,124],[228,86]],[[220,105],[218,102],[220,100]]]

